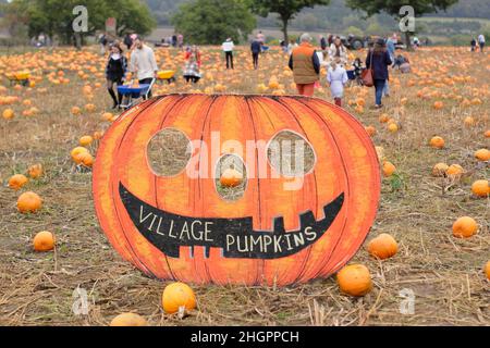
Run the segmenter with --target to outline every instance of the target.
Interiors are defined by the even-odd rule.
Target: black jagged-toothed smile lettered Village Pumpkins
[[[274,219],[273,231],[254,231],[253,217],[210,219],[173,214],[155,208],[131,194],[122,183],[121,200],[139,233],[157,249],[180,258],[180,247],[221,249],[229,259],[280,259],[295,254],[318,241],[329,229],[344,203],[344,194],[323,208],[324,217],[316,221],[311,211],[299,214],[301,227],[286,232],[284,219]]]

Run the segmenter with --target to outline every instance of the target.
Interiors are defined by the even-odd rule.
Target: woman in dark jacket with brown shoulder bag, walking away
[[[376,90],[376,109],[382,108],[382,97],[384,84],[389,79],[388,66],[393,64],[390,54],[387,51],[387,45],[382,38],[376,40],[375,47],[368,51],[366,58],[366,67],[372,66],[375,90]]]

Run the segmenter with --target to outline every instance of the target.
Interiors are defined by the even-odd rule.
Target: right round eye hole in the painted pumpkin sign
[[[269,164],[282,176],[297,177],[309,174],[317,161],[315,150],[302,135],[281,130],[267,147]]]

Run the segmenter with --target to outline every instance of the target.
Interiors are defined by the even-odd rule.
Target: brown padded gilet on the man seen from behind
[[[296,84],[307,85],[319,80],[320,60],[311,45],[302,44],[293,50],[290,58],[290,69],[294,73]]]

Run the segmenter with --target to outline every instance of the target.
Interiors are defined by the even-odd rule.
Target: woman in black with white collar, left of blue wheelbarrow
[[[124,80],[124,76],[127,71],[127,61],[123,54],[123,49],[121,44],[115,41],[111,48],[109,53],[109,59],[106,65],[106,79],[107,79],[107,90],[114,102],[112,109],[119,108],[122,102],[122,96],[118,92],[118,97],[115,97],[114,92],[114,84],[117,86],[121,86]]]

